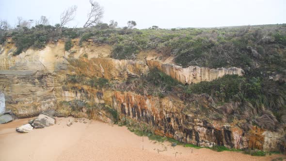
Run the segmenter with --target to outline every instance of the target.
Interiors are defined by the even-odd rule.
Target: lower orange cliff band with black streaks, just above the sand
[[[79,96],[80,90],[84,92]],[[242,129],[231,124],[202,120],[200,115],[192,113],[191,107],[174,97],[159,98],[132,92],[93,91],[89,87],[69,91],[67,96],[69,99],[90,99],[96,103],[105,103],[114,108],[120,118],[126,117],[147,123],[149,129],[157,135],[188,144],[207,147],[223,145],[228,148],[268,151],[277,151],[285,144],[281,141],[284,137],[283,133],[254,127],[246,134]],[[94,112],[94,118],[106,121],[104,115]]]

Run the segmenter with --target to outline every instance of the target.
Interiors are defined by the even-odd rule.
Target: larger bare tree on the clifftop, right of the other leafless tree
[[[103,17],[104,10],[103,7],[96,1],[89,0],[91,4],[91,10],[87,14],[87,21],[83,25],[84,28],[95,26],[98,22],[100,22]]]

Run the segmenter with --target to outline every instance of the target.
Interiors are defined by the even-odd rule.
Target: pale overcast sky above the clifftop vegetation
[[[102,22],[118,22],[136,28],[222,27],[286,23],[286,0],[96,0],[104,7]],[[0,0],[0,19],[15,27],[17,17],[39,19],[46,16],[51,25],[60,22],[61,13],[77,5],[75,20],[68,27],[82,27],[90,10],[89,0]]]

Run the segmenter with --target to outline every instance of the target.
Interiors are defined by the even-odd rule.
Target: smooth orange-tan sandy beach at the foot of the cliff
[[[137,136],[127,127],[88,119],[86,124],[74,122],[68,127],[70,118],[56,118],[57,124],[51,127],[30,133],[15,131],[29,119],[0,125],[0,161],[271,161],[282,156],[173,147]]]

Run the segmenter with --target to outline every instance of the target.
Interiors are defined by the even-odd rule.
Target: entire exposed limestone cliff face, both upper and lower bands
[[[42,50],[28,49],[12,56],[15,49],[13,44],[0,46],[0,91],[5,96],[6,109],[18,117],[31,117],[55,109],[59,116],[90,117],[112,123],[114,115],[110,110],[114,109],[119,118],[147,123],[158,135],[194,145],[279,150],[285,144],[280,140],[284,136],[281,133],[256,128],[246,134],[232,124],[206,121],[202,115],[194,113],[194,106],[175,96],[160,98],[66,82],[67,74],[124,81],[146,75],[150,68],[157,67],[172,78],[191,84],[212,81],[225,74],[243,75],[239,68],[182,68],[171,64],[172,61],[115,60],[109,58],[111,47],[91,44],[74,46],[71,52],[67,52],[64,43],[59,42]],[[74,100],[95,106],[71,107],[69,103]],[[206,103],[205,106],[210,105]]]

